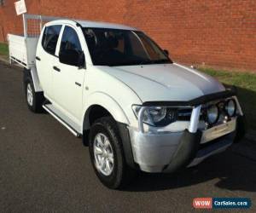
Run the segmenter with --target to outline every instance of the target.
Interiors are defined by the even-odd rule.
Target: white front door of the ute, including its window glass
[[[78,33],[73,26],[65,26],[61,37],[60,52],[76,51],[82,47]],[[55,107],[78,123],[81,117],[84,85],[84,68],[61,63],[55,58],[53,72],[53,90]]]

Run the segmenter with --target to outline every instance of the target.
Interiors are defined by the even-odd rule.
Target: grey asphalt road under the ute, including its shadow
[[[88,148],[28,111],[22,72],[0,63],[1,212],[190,212],[195,197],[246,197],[255,212],[255,192],[256,161],[231,149],[177,174],[141,174],[124,191],[103,187]]]

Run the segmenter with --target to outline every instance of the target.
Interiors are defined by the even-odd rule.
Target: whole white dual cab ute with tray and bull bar
[[[9,35],[10,60],[25,66],[26,101],[89,144],[96,175],[110,188],[136,170],[173,172],[241,138],[234,89],[174,63],[130,26],[51,20],[38,37]],[[42,21],[43,20],[43,21]]]

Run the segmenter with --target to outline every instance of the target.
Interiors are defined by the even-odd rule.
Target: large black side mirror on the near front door
[[[70,66],[84,67],[84,52],[79,52],[74,49],[65,49],[60,52],[59,60],[62,64]]]

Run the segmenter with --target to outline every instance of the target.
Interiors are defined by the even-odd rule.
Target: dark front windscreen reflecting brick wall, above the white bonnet
[[[83,28],[91,60],[98,66],[172,63],[166,53],[143,32]]]

